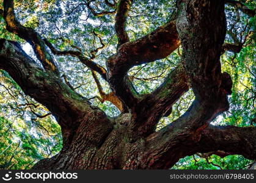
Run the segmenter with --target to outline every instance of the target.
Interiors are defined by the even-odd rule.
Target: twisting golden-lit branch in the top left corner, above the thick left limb
[[[37,59],[40,60],[43,67],[47,71],[51,71],[59,75],[56,63],[53,57],[46,49],[45,42],[35,30],[22,26],[15,18],[13,0],[4,0],[4,19],[6,21],[6,29],[26,40],[34,49]]]

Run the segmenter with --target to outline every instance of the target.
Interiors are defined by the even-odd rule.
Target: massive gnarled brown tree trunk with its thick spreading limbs
[[[12,4],[4,2],[10,31],[32,40],[35,48],[38,41],[54,54],[80,57],[81,62],[87,63],[88,59],[80,52],[58,52],[47,41],[32,37],[36,32],[26,38],[20,32],[26,27],[13,27],[16,21],[13,11],[9,11]],[[108,71],[98,65],[87,65],[108,81],[113,95],[122,102],[123,112],[115,118],[91,106],[88,99],[71,90],[57,74],[49,72],[47,65],[45,70],[40,68],[18,43],[0,40],[0,69],[10,74],[26,95],[45,105],[62,129],[62,150],[38,162],[34,169],[170,168],[181,157],[196,152],[241,154],[256,160],[255,127],[210,125],[213,118],[229,109],[227,95],[232,87],[229,74],[221,73],[219,62],[226,29],[224,1],[178,1],[177,21],[167,22],[136,41],[129,41],[125,32],[131,2],[119,3],[115,19],[119,45],[117,54],[107,60]],[[183,62],[155,91],[139,95],[128,78],[128,70],[163,59],[180,44]],[[46,50],[42,52],[47,56]],[[172,105],[190,86],[196,99],[186,113],[155,132],[160,118],[172,112]]]

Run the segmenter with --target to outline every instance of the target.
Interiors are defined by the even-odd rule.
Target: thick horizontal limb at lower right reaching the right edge
[[[256,127],[209,126],[202,131],[200,152],[225,152],[224,156],[240,154],[247,159],[256,160]],[[224,157],[222,156],[222,157]]]

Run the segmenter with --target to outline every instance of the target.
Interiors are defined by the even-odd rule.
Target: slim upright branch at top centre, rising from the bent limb
[[[117,33],[118,45],[123,45],[123,43],[128,42],[130,39],[125,30],[126,27],[126,17],[128,11],[130,10],[133,0],[120,0],[119,7],[117,8],[117,15],[115,15],[115,32]]]

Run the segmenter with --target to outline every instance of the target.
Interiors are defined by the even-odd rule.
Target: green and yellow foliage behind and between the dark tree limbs
[[[0,0],[0,8],[2,8]],[[110,1],[113,2],[113,1]],[[243,1],[247,8],[255,9],[255,1]],[[95,62],[105,66],[106,59],[115,53],[117,37],[114,32],[114,15],[96,17],[87,9],[86,1],[59,0],[16,0],[15,10],[18,20],[27,27],[37,30],[60,50],[74,49],[76,45],[85,56],[101,46],[100,40],[92,34],[100,35],[106,48],[97,53]],[[103,0],[93,1],[96,12],[112,11]],[[127,20],[127,30],[131,40],[136,40],[161,26],[175,11],[175,1],[135,1]],[[232,95],[229,96],[230,109],[212,123],[234,126],[256,126],[255,120],[255,16],[249,17],[238,9],[226,5],[227,29],[230,34],[226,42],[244,41],[238,54],[225,52],[221,56],[222,71],[232,76]],[[207,26],[207,25],[206,25]],[[24,40],[5,30],[4,19],[0,16],[0,38],[18,41],[24,50],[37,60],[31,46]],[[155,90],[178,62],[179,48],[166,59],[131,68],[129,75],[139,93]],[[87,98],[98,94],[92,74],[86,66],[73,57],[55,57],[60,72],[78,93]],[[38,60],[37,60],[38,62]],[[38,62],[40,64],[40,62]],[[98,76],[100,77],[100,76]],[[106,93],[109,85],[100,79]],[[0,70],[0,168],[29,169],[35,162],[52,157],[62,148],[60,127],[54,117],[38,102],[24,95],[21,88],[3,70]],[[158,130],[182,115],[194,99],[189,90],[173,106],[169,117],[162,118]],[[110,102],[103,104],[92,99],[93,105],[100,107],[109,116],[119,115],[119,110]],[[246,169],[254,163],[243,156],[224,158],[205,154],[195,154],[180,159],[172,169]]]

